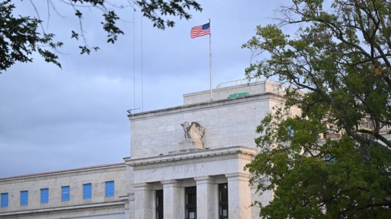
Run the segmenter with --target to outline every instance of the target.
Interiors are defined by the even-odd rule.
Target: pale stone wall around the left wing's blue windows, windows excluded
[[[0,208],[0,218],[11,211],[92,206],[122,201],[129,191],[125,164],[102,165],[52,173],[0,178],[0,193],[8,193],[8,207]],[[130,176],[132,177],[133,174]],[[115,196],[105,197],[105,181],[115,181]],[[83,184],[92,184],[92,198],[83,199]],[[61,187],[70,187],[70,200],[61,201]],[[41,189],[49,189],[48,203],[40,203]],[[20,191],[29,191],[29,204],[20,206]],[[127,199],[127,198],[126,198]],[[118,206],[115,206],[118,208]],[[3,214],[5,213],[5,214]],[[124,209],[122,209],[122,214]],[[70,214],[71,215],[71,214]],[[44,217],[42,217],[44,218]]]

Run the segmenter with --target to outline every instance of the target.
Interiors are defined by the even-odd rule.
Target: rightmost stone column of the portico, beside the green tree
[[[230,219],[251,219],[251,190],[249,174],[230,173],[228,179],[228,217]]]

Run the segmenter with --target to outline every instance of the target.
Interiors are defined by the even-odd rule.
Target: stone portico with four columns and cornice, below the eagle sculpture
[[[188,186],[197,186],[197,218],[218,218],[217,186],[226,182],[230,218],[252,218],[249,174],[244,166],[255,153],[253,148],[229,147],[145,159],[126,158],[134,171],[135,218],[155,216],[149,201],[141,201],[147,199],[146,194],[154,195],[153,184],[163,185],[164,218],[184,218],[184,188]]]

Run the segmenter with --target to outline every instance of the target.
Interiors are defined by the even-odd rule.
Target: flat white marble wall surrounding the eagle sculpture
[[[257,125],[269,112],[268,100],[238,102],[207,109],[131,120],[131,157],[150,157],[181,150],[180,123],[199,122],[205,128],[205,148],[233,145],[255,147]]]

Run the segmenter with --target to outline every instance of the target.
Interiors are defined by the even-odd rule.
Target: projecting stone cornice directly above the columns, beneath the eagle
[[[244,155],[241,157],[242,159],[251,160],[251,158],[256,154],[256,149],[242,147],[242,146],[233,146],[227,148],[218,148],[211,150],[202,150],[195,152],[185,152],[181,154],[175,155],[162,155],[148,158],[136,158],[131,159],[130,157],[124,158],[126,165],[129,166],[145,166],[156,163],[163,162],[172,162],[172,161],[183,161],[183,160],[194,160],[194,159],[202,159],[202,158],[212,158],[216,159],[219,156],[229,156],[229,155]]]

